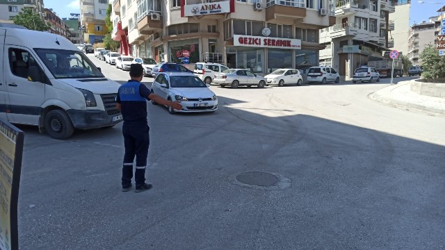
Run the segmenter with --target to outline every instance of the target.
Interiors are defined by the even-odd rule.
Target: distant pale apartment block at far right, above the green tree
[[[439,33],[440,19],[438,17],[430,17],[428,22],[423,21],[420,24],[414,24],[410,28],[410,36],[408,38],[408,58],[413,65],[420,65],[420,55],[426,47],[435,46],[436,35]]]

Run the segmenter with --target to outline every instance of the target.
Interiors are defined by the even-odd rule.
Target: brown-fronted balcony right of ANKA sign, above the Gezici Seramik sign
[[[266,1],[266,22],[301,22],[305,17],[304,0]]]

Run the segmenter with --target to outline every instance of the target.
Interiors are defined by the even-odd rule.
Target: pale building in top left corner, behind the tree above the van
[[[43,19],[43,0],[0,0],[0,22],[13,23],[12,19],[22,8],[33,8]]]

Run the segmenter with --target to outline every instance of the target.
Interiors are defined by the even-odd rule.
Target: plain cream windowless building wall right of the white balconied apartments
[[[411,29],[410,12],[411,1],[399,0],[396,4],[396,12],[389,13],[389,21],[394,22],[394,31],[389,33],[390,38],[394,40],[394,47],[391,47],[391,49],[401,51],[403,55],[407,55],[410,51],[408,48]]]

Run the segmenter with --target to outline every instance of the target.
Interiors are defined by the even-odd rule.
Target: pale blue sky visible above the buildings
[[[407,1],[407,0],[403,0]],[[442,3],[443,2],[443,3]],[[445,0],[424,0],[424,3],[419,3],[416,0],[411,1],[410,25],[421,23],[423,20],[428,22],[428,19],[437,15],[437,10],[441,6],[445,6]],[[44,0],[45,8],[52,8],[57,15],[62,17],[69,17],[70,13],[80,12],[79,0]]]

